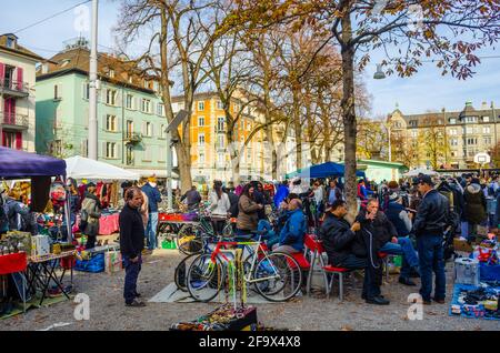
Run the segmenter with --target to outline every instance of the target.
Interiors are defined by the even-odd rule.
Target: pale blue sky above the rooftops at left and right
[[[0,0],[0,33],[16,32],[57,12],[73,7],[83,0]],[[9,4],[1,7],[1,4]],[[41,6],[43,3],[43,6]],[[84,4],[90,14],[90,3]],[[112,28],[118,21],[120,0],[101,0],[99,6],[99,44],[100,51],[110,51],[114,46]],[[12,16],[22,13],[22,16]],[[63,49],[63,42],[80,34],[90,37],[89,23],[80,19],[84,11],[70,10],[32,28],[17,32],[21,46],[38,54],[50,58]],[[480,56],[500,56],[500,50],[488,49]],[[476,74],[467,81],[459,81],[451,75],[442,77],[433,63],[424,63],[411,78],[388,77],[374,80],[376,63],[381,60],[377,52],[363,74],[364,83],[372,95],[372,115],[384,117],[399,105],[403,113],[423,113],[428,110],[461,110],[467,101],[474,108],[482,102],[490,105],[494,101],[500,107],[500,58],[483,59],[476,68]]]

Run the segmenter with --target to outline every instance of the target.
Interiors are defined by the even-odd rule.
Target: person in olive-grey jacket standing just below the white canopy
[[[82,221],[86,226],[81,230],[87,235],[86,249],[96,246],[97,235],[99,233],[99,219],[101,218],[101,201],[96,195],[96,184],[90,182],[87,184],[87,192],[81,203]]]

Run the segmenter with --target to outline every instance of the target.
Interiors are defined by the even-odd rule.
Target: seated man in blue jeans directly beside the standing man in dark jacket
[[[402,205],[401,195],[396,191],[389,195],[386,215],[392,225],[394,225],[398,236],[393,236],[390,242],[386,243],[380,249],[380,251],[392,255],[402,255],[399,283],[404,285],[416,285],[410,278],[419,276],[419,258],[408,236],[411,231],[410,218]]]

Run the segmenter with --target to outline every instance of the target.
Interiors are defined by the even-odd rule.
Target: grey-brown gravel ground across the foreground
[[[139,292],[147,301],[173,281],[173,270],[181,259],[177,251],[160,250],[144,258],[139,276]],[[151,263],[152,262],[152,263]],[[452,264],[447,268],[449,278],[448,300],[451,300]],[[327,299],[323,293],[312,293],[311,297],[296,299],[288,303],[258,304],[258,319],[267,326],[288,330],[429,330],[429,331],[487,331],[500,330],[498,321],[450,317],[449,304],[424,306],[423,320],[409,321],[406,301],[418,288],[390,282],[382,286],[382,293],[391,301],[389,306],[368,305],[360,299],[359,289],[347,289],[342,303],[336,294]],[[420,284],[419,280],[416,280]],[[32,331],[49,327],[54,323],[71,323],[54,330],[168,330],[172,323],[189,321],[218,306],[212,303],[148,303],[144,309],[129,309],[123,304],[123,272],[81,273],[74,275],[76,293],[90,296],[90,320],[76,321],[73,302],[63,302],[40,310],[31,310],[0,321],[0,331]],[[357,288],[361,285],[358,281]]]

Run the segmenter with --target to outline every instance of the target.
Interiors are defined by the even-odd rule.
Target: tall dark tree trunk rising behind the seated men
[[[354,109],[354,50],[351,46],[352,29],[349,11],[342,18],[342,83],[341,101],[346,155],[346,201],[348,220],[353,221],[358,212],[358,189],[356,181],[356,109]]]

